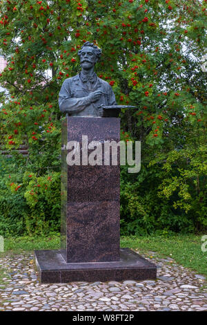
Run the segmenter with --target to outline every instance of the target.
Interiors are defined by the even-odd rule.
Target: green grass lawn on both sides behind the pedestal
[[[33,250],[55,250],[60,248],[59,234],[50,236],[23,236],[5,239],[5,252],[18,253]],[[150,257],[150,251],[157,257],[171,257],[180,265],[195,270],[207,277],[207,252],[201,250],[201,235],[171,236],[122,236],[121,247],[137,249]],[[1,257],[1,255],[0,255]]]

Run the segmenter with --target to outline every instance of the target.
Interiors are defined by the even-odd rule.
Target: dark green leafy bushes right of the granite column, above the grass
[[[122,167],[121,233],[204,232],[206,151],[204,129],[191,128],[180,149],[144,147],[139,174]]]

